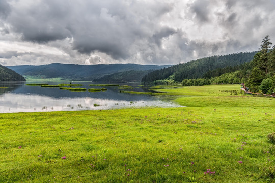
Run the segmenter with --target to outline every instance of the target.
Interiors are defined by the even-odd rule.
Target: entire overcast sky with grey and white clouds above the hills
[[[275,0],[0,0],[0,64],[167,65],[275,43]]]

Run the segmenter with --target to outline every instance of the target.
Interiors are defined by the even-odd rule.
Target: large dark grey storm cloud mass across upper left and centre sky
[[[154,21],[171,8],[171,4],[162,2],[133,1],[128,5],[123,1],[47,0],[18,8],[9,21],[26,41],[41,43],[73,37],[73,49],[80,53],[100,51],[114,59],[126,59],[130,57],[127,48],[141,37],[154,35],[154,29],[157,44],[170,35],[171,28],[162,29]]]

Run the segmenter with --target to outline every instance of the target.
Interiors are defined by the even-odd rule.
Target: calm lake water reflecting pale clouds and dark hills
[[[27,86],[26,84],[29,83],[58,85],[69,82],[0,82],[0,87],[8,87],[0,88],[0,113],[105,110],[146,106],[181,107],[172,102],[162,101],[159,97],[119,92],[120,90],[147,92],[147,88],[132,83],[120,83],[120,85],[129,85],[134,89],[103,86],[108,89],[105,92],[70,92],[59,88]],[[83,84],[83,86],[78,87],[87,89],[102,88],[102,86],[89,86],[89,84],[102,83],[72,82],[72,84]],[[99,104],[99,106],[94,106],[94,104]]]

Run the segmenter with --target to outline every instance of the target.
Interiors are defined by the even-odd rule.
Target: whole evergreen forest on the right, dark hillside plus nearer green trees
[[[153,71],[145,83],[183,86],[245,83],[251,92],[272,94],[275,90],[275,46],[265,36],[259,51],[211,56]]]

